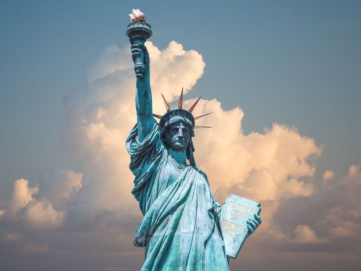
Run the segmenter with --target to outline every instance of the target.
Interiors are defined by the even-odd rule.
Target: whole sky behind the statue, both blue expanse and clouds
[[[203,95],[197,167],[218,202],[261,202],[230,270],[358,270],[359,1],[1,1],[0,269],[142,266],[132,8],[153,30],[153,112]]]

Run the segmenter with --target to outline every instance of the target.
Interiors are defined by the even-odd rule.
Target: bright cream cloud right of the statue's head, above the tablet
[[[194,102],[192,99],[183,104],[187,108]],[[275,199],[286,192],[313,193],[312,184],[298,179],[314,175],[312,161],[322,151],[314,139],[301,136],[294,127],[279,124],[273,124],[265,134],[245,135],[241,125],[243,111],[240,108],[224,111],[216,99],[200,100],[193,113],[197,116],[211,111],[212,115],[197,124],[212,124],[213,128],[196,130],[194,144],[197,166],[207,173],[214,192],[222,186],[238,184],[252,197],[256,195],[250,191],[258,190],[255,200]],[[255,171],[260,171],[260,176],[253,185],[254,178],[248,182],[247,179]]]

